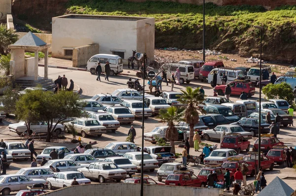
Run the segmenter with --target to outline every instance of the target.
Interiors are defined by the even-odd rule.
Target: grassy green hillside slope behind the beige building
[[[46,18],[46,12],[49,17],[62,13],[154,17],[156,48],[202,48],[201,5],[162,1],[69,0],[49,10],[39,10],[39,18],[50,20]],[[16,15],[27,19],[32,26],[44,27],[36,16],[26,13]],[[50,23],[46,24],[49,28]],[[296,6],[266,11],[262,6],[207,3],[206,48],[246,57],[256,56],[259,53],[259,30],[255,30],[254,25],[265,29],[262,44],[264,60],[296,63]]]

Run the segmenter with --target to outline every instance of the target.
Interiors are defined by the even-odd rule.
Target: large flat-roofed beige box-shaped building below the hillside
[[[99,47],[94,49],[91,44]],[[114,54],[126,60],[136,50],[152,61],[154,18],[79,14],[52,18],[52,57],[73,59],[74,49],[86,45],[91,49],[84,49],[86,59],[95,54]]]

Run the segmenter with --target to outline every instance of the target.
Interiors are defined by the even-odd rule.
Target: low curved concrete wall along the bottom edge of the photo
[[[67,187],[46,196],[140,196],[140,184],[107,183]],[[144,185],[145,196],[219,196],[221,189]]]

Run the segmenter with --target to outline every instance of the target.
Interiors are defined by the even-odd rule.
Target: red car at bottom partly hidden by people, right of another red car
[[[221,164],[208,164],[205,168],[202,168],[198,173],[197,177],[202,180],[201,187],[207,186],[207,178],[211,171],[216,171],[218,180],[224,180],[224,173]]]

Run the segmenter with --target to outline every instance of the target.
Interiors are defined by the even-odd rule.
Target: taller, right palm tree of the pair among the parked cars
[[[199,92],[199,88],[192,89],[191,87],[186,87],[186,90],[181,90],[182,95],[177,99],[183,104],[186,104],[185,110],[185,122],[189,125],[189,144],[190,147],[194,146],[193,136],[194,136],[194,125],[198,122],[198,111],[196,106],[204,100],[204,95]]]

